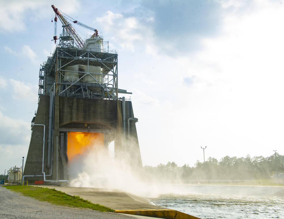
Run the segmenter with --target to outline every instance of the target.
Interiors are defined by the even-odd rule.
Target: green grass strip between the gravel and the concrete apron
[[[35,187],[35,186],[5,186],[7,189],[20,192],[25,196],[30,196],[40,201],[47,201],[54,205],[65,205],[69,207],[90,208],[101,212],[114,212],[113,209],[103,205],[91,203],[88,200],[82,199],[79,196],[68,195],[65,192],[57,191],[56,189]]]

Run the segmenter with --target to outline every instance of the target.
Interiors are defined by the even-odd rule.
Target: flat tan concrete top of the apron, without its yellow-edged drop
[[[39,185],[37,185],[39,186]],[[167,209],[157,205],[152,205],[148,199],[135,196],[133,194],[120,190],[108,190],[99,188],[76,188],[76,187],[61,187],[48,186],[42,187],[55,188],[69,195],[78,195],[82,199],[87,199],[93,203],[99,203],[114,210],[134,210],[134,209]]]

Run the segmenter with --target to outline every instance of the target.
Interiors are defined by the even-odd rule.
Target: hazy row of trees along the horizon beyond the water
[[[270,179],[274,171],[284,171],[284,155],[279,153],[263,157],[250,155],[222,157],[219,161],[209,157],[207,161],[196,161],[194,167],[188,164],[179,167],[175,162],[157,167],[144,166],[144,176],[154,179],[180,180],[261,180]]]

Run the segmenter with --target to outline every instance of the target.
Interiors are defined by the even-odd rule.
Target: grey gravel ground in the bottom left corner
[[[81,209],[52,205],[0,186],[0,218],[2,219],[120,219],[132,216],[117,214],[114,212],[98,212],[92,209]]]

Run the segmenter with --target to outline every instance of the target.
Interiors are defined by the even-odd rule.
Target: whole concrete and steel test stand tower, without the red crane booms
[[[142,167],[131,101],[118,98],[118,93],[131,93],[118,88],[117,52],[104,50],[108,41],[98,34],[77,48],[68,25],[62,26],[59,46],[40,67],[38,108],[23,174],[29,183],[69,180],[71,133],[99,133],[102,147],[114,141],[115,160]]]

